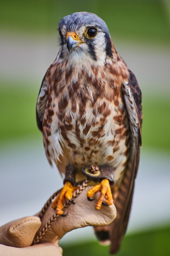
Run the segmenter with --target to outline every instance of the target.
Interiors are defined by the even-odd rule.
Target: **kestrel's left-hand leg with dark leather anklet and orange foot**
[[[72,200],[72,196],[74,191],[79,188],[77,186],[73,186],[74,181],[75,181],[75,168],[73,166],[66,166],[64,186],[51,205],[51,207],[55,209],[58,215],[63,214],[65,200],[69,200],[71,203],[74,204]]]

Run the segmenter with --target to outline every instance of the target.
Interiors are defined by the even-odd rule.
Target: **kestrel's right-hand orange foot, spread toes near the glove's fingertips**
[[[100,182],[100,184],[97,184],[96,186],[94,186],[92,189],[90,189],[87,192],[87,198],[88,200],[91,200],[91,198],[93,197],[93,195],[100,191],[100,196],[99,199],[97,201],[96,210],[99,210],[102,206],[102,204],[104,205],[111,205],[113,204],[113,196],[112,196],[112,192],[110,189],[110,184],[108,180],[102,180],[102,182]]]

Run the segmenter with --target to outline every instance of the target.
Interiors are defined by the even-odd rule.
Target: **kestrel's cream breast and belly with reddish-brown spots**
[[[115,69],[109,61],[104,69],[84,65],[70,69],[56,60],[47,71],[44,83],[50,96],[43,139],[49,162],[54,160],[61,173],[68,164],[77,173],[89,164],[108,164],[113,166],[115,181],[121,178],[130,133],[121,96],[128,70],[124,62],[118,63]]]

